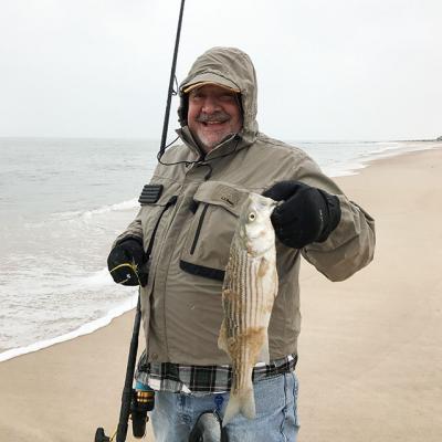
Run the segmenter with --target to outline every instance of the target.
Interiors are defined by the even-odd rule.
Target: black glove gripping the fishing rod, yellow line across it
[[[112,277],[118,284],[147,284],[147,273],[143,272],[146,255],[140,241],[128,239],[122,241],[110,251],[107,257],[107,267]]]

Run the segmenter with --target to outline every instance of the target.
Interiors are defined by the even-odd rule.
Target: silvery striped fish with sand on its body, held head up
[[[277,202],[250,193],[241,208],[222,284],[218,346],[232,362],[232,385],[222,424],[236,414],[255,418],[252,371],[270,361],[267,328],[277,294],[275,232]]]

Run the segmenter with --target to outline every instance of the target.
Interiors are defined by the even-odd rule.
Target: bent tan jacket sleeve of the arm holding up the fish
[[[301,252],[327,278],[344,281],[371,262],[376,243],[375,220],[350,201],[308,157],[297,171],[299,181],[336,194],[341,210],[340,221],[328,239],[308,244]]]

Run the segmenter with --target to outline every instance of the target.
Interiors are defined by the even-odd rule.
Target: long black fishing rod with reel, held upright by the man
[[[166,112],[165,112],[165,120],[162,125],[162,135],[161,135],[161,143],[158,152],[158,160],[162,157],[166,151],[166,139],[167,139],[167,131],[169,127],[169,116],[170,116],[170,104],[172,95],[176,95],[177,92],[173,91],[173,82],[176,78],[176,69],[177,69],[177,59],[178,59],[178,48],[179,41],[181,35],[181,23],[182,23],[182,15],[185,11],[185,1],[181,0],[180,12],[178,17],[178,27],[177,27],[177,35],[175,39],[175,50],[173,50],[173,57],[172,57],[172,65],[170,69],[170,78],[169,78],[169,88],[167,92],[167,103],[166,103]],[[139,326],[141,322],[141,307],[140,307],[140,294],[141,291],[138,292],[138,302],[137,308],[135,313],[134,319],[134,330],[130,339],[130,347],[129,347],[129,355],[127,357],[127,368],[126,368],[126,378],[125,385],[123,388],[122,394],[122,407],[119,410],[119,420],[118,427],[114,435],[110,438],[105,434],[103,428],[97,428],[95,432],[95,440],[94,442],[113,442],[114,438],[116,436],[116,442],[125,442],[127,436],[127,429],[128,429],[128,421],[129,417],[131,415],[133,420],[133,433],[135,438],[143,438],[145,435],[146,423],[148,421],[147,411],[151,410],[154,407],[154,397],[149,396],[149,392],[140,392],[141,399],[137,397],[136,391],[133,388],[134,382],[134,373],[135,373],[135,365],[137,359],[138,352],[138,337],[139,337]],[[145,394],[143,394],[145,393]],[[138,398],[138,400],[137,400]]]

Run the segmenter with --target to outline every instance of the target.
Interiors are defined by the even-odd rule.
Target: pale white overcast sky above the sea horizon
[[[0,136],[159,139],[179,6],[0,0]],[[213,45],[251,55],[270,136],[442,135],[441,0],[187,0],[179,82]]]

